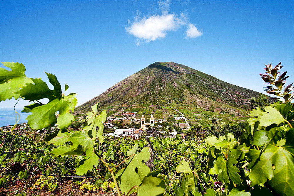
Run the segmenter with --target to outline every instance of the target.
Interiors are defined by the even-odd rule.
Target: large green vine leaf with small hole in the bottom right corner
[[[294,132],[290,129],[286,133],[286,143],[281,140],[278,145],[273,141],[267,145],[260,158],[251,168],[249,178],[251,185],[260,185],[267,181],[280,195],[291,195],[294,192]],[[274,169],[273,166],[274,165]]]

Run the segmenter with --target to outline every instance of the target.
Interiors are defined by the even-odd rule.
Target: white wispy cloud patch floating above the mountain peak
[[[139,10],[137,10],[133,22],[127,20],[128,25],[126,26],[126,31],[137,38],[137,45],[165,38],[168,31],[176,31],[181,26],[189,24],[189,19],[184,13],[181,13],[180,16],[175,13],[168,14],[169,5],[171,4],[170,0],[160,0],[157,4],[161,15],[154,14],[142,18]],[[202,31],[198,31],[193,24],[189,24],[188,30],[186,31],[186,38],[195,38],[201,35]]]

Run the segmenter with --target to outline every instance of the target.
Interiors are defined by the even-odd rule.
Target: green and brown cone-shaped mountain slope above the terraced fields
[[[87,111],[119,104],[142,104],[174,101],[200,104],[213,102],[241,109],[249,108],[249,99],[258,92],[218,80],[216,77],[174,62],[155,62],[110,87],[106,92],[80,105],[76,111]]]

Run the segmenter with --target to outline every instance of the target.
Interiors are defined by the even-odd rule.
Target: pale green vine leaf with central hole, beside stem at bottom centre
[[[136,144],[134,148],[138,148],[138,144]],[[119,170],[116,174],[116,177],[120,179],[119,187],[121,192],[127,193],[131,187],[135,185],[139,186],[144,177],[150,173],[150,169],[147,165],[142,163],[142,161],[146,162],[150,158],[148,150],[148,147],[144,147],[140,153],[133,155],[127,161],[126,167]],[[132,192],[133,190],[131,193]]]

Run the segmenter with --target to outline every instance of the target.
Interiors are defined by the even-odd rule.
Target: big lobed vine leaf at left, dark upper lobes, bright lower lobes
[[[77,100],[74,93],[64,96],[61,94],[61,85],[59,84],[55,75],[46,73],[49,82],[54,86],[51,90],[45,82],[41,79],[31,79],[33,83],[26,84],[16,93],[26,100],[35,101],[39,99],[48,98],[47,104],[31,104],[25,106],[23,112],[32,112],[26,120],[32,129],[43,129],[52,127],[56,123],[61,130],[66,129],[72,121],[74,116],[70,111],[74,111]],[[56,112],[59,111],[58,119]]]

